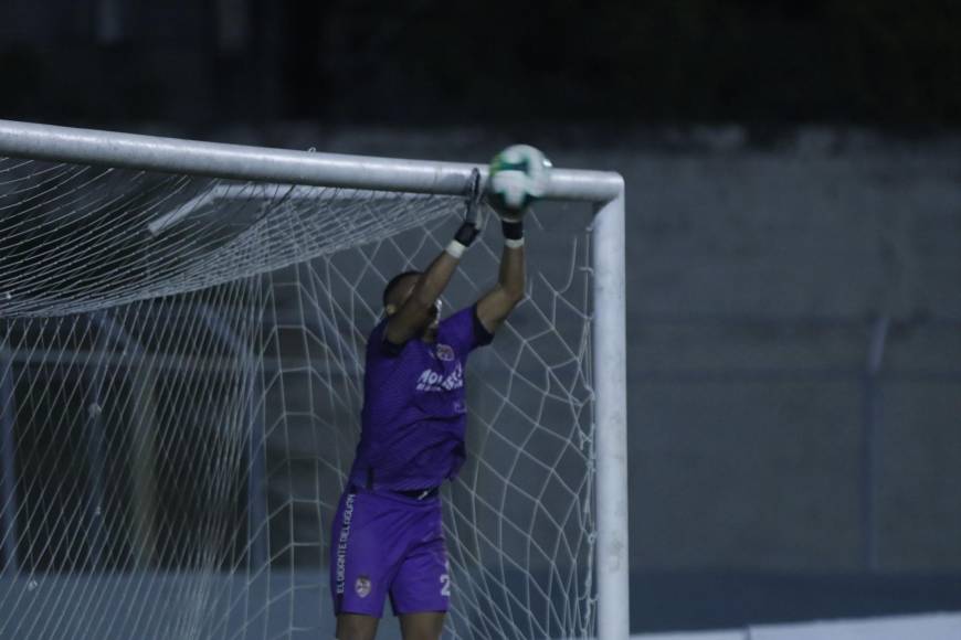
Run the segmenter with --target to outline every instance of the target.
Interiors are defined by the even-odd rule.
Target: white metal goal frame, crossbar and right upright
[[[483,164],[277,150],[6,120],[0,120],[0,157],[437,195],[464,194],[475,168],[486,180]],[[594,206],[590,255],[596,621],[600,639],[624,640],[630,618],[624,181],[613,172],[555,169],[546,198]]]

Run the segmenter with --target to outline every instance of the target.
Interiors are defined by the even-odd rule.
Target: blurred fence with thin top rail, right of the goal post
[[[644,569],[957,572],[957,319],[631,324]]]

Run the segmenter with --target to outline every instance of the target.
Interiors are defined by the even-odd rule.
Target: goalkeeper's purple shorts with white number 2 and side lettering
[[[440,498],[350,488],[330,530],[335,615],[380,618],[388,595],[395,616],[447,610],[451,575]]]

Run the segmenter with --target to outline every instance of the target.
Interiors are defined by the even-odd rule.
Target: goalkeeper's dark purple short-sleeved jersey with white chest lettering
[[[466,456],[467,354],[493,335],[468,307],[442,320],[437,339],[384,339],[387,320],[367,342],[360,444],[350,481],[395,491],[436,487],[454,478]]]

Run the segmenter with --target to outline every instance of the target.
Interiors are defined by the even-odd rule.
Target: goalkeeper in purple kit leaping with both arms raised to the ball
[[[338,640],[369,640],[389,595],[404,640],[441,637],[451,595],[440,484],[466,455],[467,354],[488,344],[524,297],[520,216],[503,218],[497,285],[441,319],[440,296],[478,224],[464,222],[423,273],[383,290],[386,318],[367,344],[360,444],[331,526]]]

